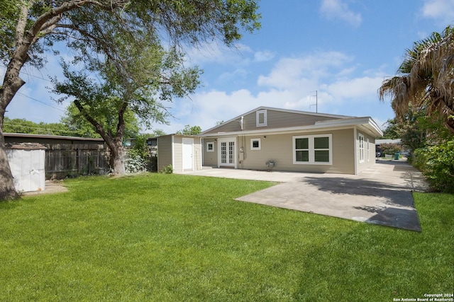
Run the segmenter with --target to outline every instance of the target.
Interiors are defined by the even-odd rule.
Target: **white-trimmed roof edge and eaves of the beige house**
[[[273,110],[278,112],[288,112],[293,114],[301,115],[311,115],[314,117],[321,117],[321,120],[315,121],[311,124],[301,124],[298,126],[289,126],[289,127],[275,127],[267,129],[251,129],[247,131],[236,131],[236,132],[214,132],[215,129],[222,127],[225,124],[230,122],[237,121],[245,115],[256,112],[258,110]],[[327,119],[328,118],[328,119]],[[258,133],[269,133],[269,134],[279,134],[279,133],[291,133],[291,132],[301,132],[301,131],[316,131],[316,130],[331,130],[331,129],[342,129],[342,128],[351,128],[351,127],[360,127],[363,131],[369,132],[373,137],[382,136],[382,131],[378,127],[377,123],[372,120],[372,117],[351,117],[346,115],[331,115],[326,113],[318,112],[306,112],[299,110],[286,110],[279,108],[270,108],[270,107],[259,107],[249,112],[245,112],[243,115],[234,117],[223,124],[219,124],[216,127],[212,127],[204,132],[201,132],[199,136],[201,137],[218,137],[218,136],[227,136],[227,135],[239,135],[239,134],[258,134]]]

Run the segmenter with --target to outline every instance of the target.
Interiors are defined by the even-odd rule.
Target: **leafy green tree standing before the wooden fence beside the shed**
[[[199,70],[185,69],[182,54],[175,50],[165,52],[149,38],[140,40],[136,36],[131,40],[121,35],[116,40],[121,48],[117,52],[124,58],[118,64],[113,64],[104,52],[101,59],[97,53],[92,57],[85,54],[84,71],[70,71],[70,65],[63,63],[67,79],[52,82],[54,93],[67,95],[60,100],[75,98],[79,116],[92,124],[109,146],[114,174],[123,175],[126,119],[131,121],[132,115],[147,126],[151,122],[166,122],[167,112],[161,102],[193,93],[199,85]]]

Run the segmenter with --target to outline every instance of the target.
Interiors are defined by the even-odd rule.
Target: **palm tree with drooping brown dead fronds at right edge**
[[[397,118],[409,110],[425,109],[429,117],[440,113],[454,134],[454,27],[414,42],[406,50],[397,76],[383,81],[380,100],[392,97]]]

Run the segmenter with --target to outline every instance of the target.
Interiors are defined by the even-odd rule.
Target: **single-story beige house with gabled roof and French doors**
[[[382,131],[371,117],[260,107],[199,136],[205,166],[358,174]]]

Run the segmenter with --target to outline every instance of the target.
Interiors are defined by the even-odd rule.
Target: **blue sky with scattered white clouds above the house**
[[[394,117],[377,89],[394,76],[407,48],[454,23],[454,0],[262,0],[262,28],[245,34],[236,47],[219,42],[188,49],[188,66],[204,70],[190,98],[165,104],[167,134],[198,125],[214,127],[244,112],[268,106],[356,117],[370,116],[382,127]],[[67,103],[57,105],[46,86],[61,76],[58,57],[40,71],[24,69],[27,82],[6,116],[59,122]],[[0,68],[3,75],[4,68]],[[145,132],[152,132],[145,130]]]

